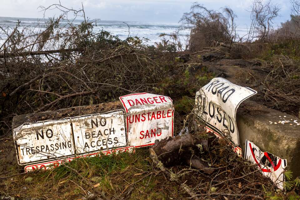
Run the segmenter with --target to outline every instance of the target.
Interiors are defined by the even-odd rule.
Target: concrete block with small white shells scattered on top
[[[289,122],[283,124],[279,121]],[[294,116],[246,100],[237,109],[237,128],[243,155],[247,139],[261,151],[287,159],[286,169],[293,172],[294,178],[300,176],[300,125],[297,123],[300,119]]]

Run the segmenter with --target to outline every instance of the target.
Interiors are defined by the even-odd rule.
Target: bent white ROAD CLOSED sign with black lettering
[[[257,92],[235,85],[224,78],[213,78],[196,93],[197,116],[206,123],[207,132],[217,137],[229,137],[234,152],[241,154],[236,113],[238,106]]]

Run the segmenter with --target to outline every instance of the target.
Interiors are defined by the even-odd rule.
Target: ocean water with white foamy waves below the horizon
[[[32,29],[37,29],[37,25],[43,24],[44,19],[34,19],[34,18],[16,18],[16,17],[0,17],[0,27],[16,27],[17,21],[20,21],[20,29],[26,26]],[[73,24],[80,24],[82,20],[74,20]],[[130,36],[137,36],[140,38],[148,38],[149,42],[147,44],[153,45],[155,42],[160,42],[160,34],[166,33],[171,34],[178,30],[180,24],[178,23],[152,23],[152,22],[125,22],[130,27]],[[93,23],[93,32],[100,32],[105,30],[113,33],[113,35],[119,36],[121,39],[126,39],[128,37],[128,26],[123,23],[123,21],[103,21],[98,20]],[[61,27],[66,27],[68,25],[67,21],[60,22]],[[186,35],[189,35],[189,30],[183,30],[179,32],[179,37],[184,43]],[[1,37],[1,35],[0,35]],[[2,37],[3,39],[3,37]]]

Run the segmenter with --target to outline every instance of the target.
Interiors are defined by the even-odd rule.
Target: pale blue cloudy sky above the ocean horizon
[[[193,1],[190,0],[61,0],[62,5],[78,9],[83,3],[89,18],[101,20],[167,22],[176,23],[184,12],[188,12]],[[220,9],[229,6],[237,14],[237,24],[246,24],[250,13],[247,12],[251,0],[202,0],[198,1],[209,9]],[[290,3],[288,0],[272,0],[280,5],[281,17],[276,23],[289,18]],[[0,0],[1,17],[32,17],[42,18],[38,6],[49,6],[58,0]],[[46,17],[59,15],[58,10],[46,12]]]

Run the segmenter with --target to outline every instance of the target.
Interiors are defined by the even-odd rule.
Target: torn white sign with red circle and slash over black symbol
[[[277,184],[277,187],[283,189],[284,168],[287,167],[287,160],[269,152],[262,152],[254,143],[246,140],[245,159],[261,169],[261,172],[271,178]]]

